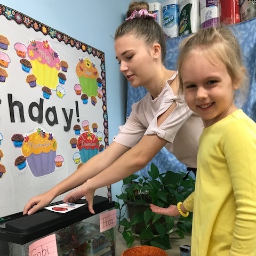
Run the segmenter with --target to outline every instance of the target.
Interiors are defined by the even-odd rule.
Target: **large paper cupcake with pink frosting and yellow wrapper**
[[[27,49],[37,84],[55,90],[59,84],[58,73],[61,69],[59,54],[47,41],[30,41]]]

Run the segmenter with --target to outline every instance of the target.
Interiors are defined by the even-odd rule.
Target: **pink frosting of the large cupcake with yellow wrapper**
[[[42,64],[46,64],[51,68],[60,70],[60,58],[58,53],[55,52],[47,43],[47,41],[39,42],[32,41],[28,45],[28,58],[30,60],[38,60]]]

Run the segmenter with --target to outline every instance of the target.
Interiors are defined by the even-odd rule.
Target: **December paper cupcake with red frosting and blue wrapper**
[[[82,163],[87,162],[91,157],[99,153],[99,140],[90,132],[84,132],[77,139],[77,148],[81,155]]]

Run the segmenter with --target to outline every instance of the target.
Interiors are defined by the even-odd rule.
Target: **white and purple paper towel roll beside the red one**
[[[216,27],[220,20],[219,0],[200,0],[201,27]]]

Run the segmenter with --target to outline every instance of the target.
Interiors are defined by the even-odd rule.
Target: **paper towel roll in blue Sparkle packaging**
[[[165,38],[179,36],[179,1],[167,0],[162,5]]]

